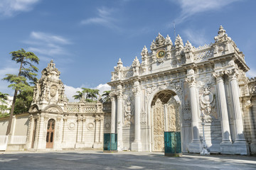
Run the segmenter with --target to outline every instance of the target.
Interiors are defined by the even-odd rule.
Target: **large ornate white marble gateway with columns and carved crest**
[[[163,151],[163,132],[172,128],[181,131],[182,152],[201,152],[204,115],[210,152],[247,154],[240,96],[248,91],[249,68],[222,26],[214,39],[196,48],[159,33],[151,52],[143,48],[142,62],[135,57],[124,67],[119,59],[108,83],[119,150]]]

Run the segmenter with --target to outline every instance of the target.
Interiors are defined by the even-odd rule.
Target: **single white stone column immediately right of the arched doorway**
[[[191,128],[192,128],[192,142],[189,143],[189,152],[201,152],[202,150],[202,143],[199,137],[199,125],[198,125],[198,118],[199,118],[199,110],[198,110],[198,103],[197,103],[197,95],[196,95],[196,78],[193,75],[188,76],[186,78],[188,82],[188,87],[190,91],[190,101],[191,101]]]

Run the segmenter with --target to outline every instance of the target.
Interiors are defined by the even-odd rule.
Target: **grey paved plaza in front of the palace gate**
[[[0,169],[256,169],[256,157],[162,152],[103,153],[100,150],[1,152]]]

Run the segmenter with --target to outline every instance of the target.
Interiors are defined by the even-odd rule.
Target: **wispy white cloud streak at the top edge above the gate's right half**
[[[189,18],[196,13],[219,10],[220,8],[232,4],[235,1],[240,0],[175,0],[174,2],[181,7],[181,16],[176,18],[175,23],[182,23],[186,18]]]

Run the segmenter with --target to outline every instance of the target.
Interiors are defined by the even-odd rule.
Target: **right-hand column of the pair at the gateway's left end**
[[[122,150],[122,119],[123,119],[123,98],[122,98],[122,86],[117,86],[117,150]]]

